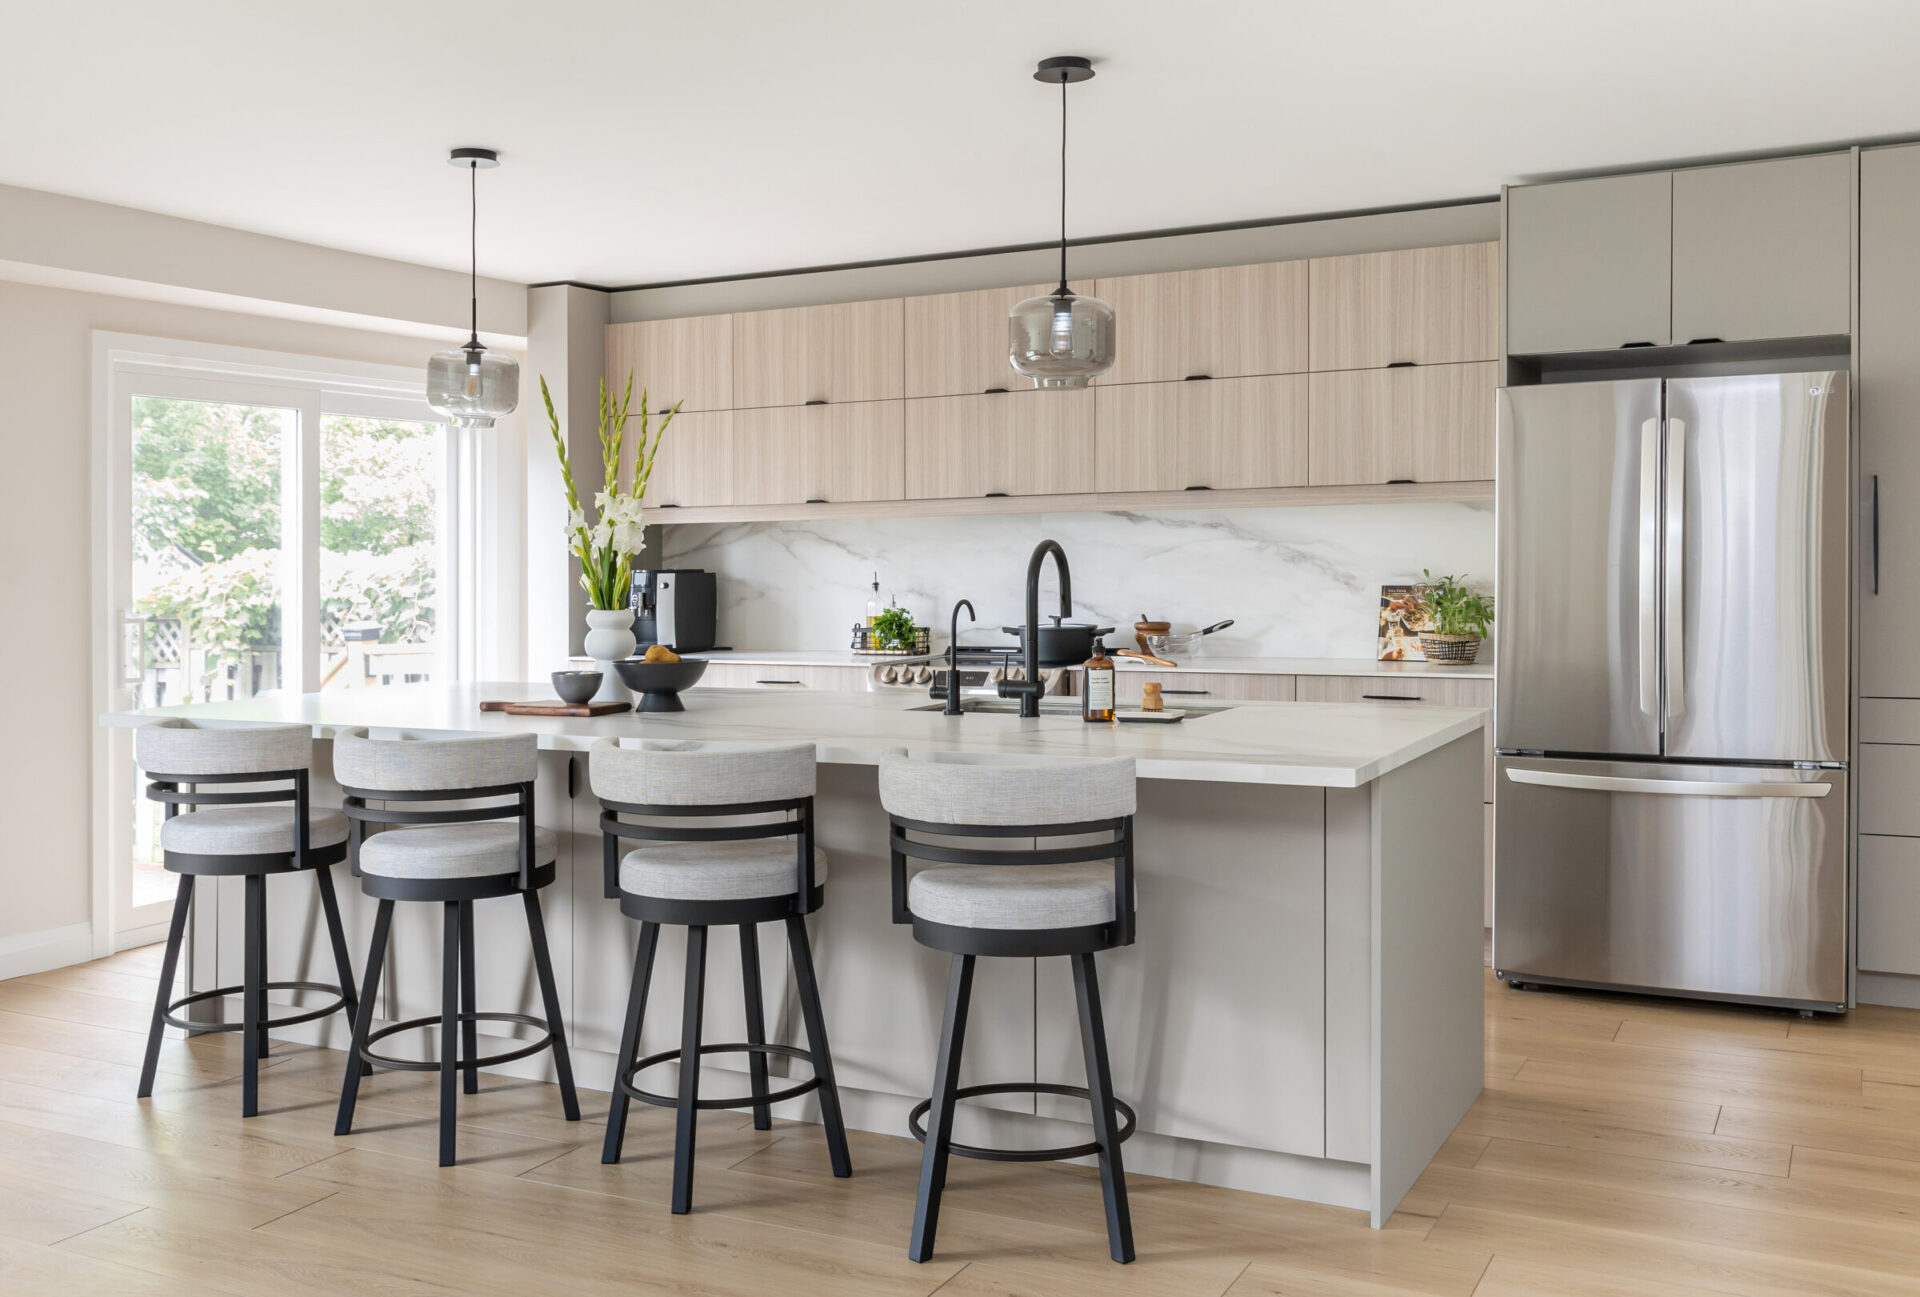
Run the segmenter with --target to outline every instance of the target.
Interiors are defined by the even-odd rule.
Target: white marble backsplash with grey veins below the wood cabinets
[[[1233,618],[1208,641],[1217,656],[1371,658],[1382,583],[1421,568],[1480,589],[1494,578],[1492,505],[678,524],[664,537],[641,562],[720,574],[718,643],[755,650],[847,647],[876,570],[881,599],[935,627],[937,645],[956,599],[979,610],[962,643],[1004,643],[1043,537],[1068,551],[1075,620]],[[1048,564],[1043,616],[1054,589]]]

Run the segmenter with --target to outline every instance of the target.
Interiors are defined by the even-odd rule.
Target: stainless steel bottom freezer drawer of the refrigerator
[[[1845,771],[1500,758],[1494,967],[1839,1007]]]

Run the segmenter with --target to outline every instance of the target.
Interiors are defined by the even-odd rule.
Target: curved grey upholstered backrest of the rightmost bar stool
[[[1114,942],[1133,942],[1133,758],[981,766],[889,752],[879,762],[879,804],[891,821],[895,923],[914,917],[906,908],[910,858],[929,865],[1110,860]],[[1018,838],[1035,844],[1014,844]],[[1048,838],[1081,840],[1048,846]]]

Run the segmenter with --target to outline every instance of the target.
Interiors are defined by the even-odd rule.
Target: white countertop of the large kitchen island
[[[551,698],[540,683],[394,685],[244,702],[148,708],[102,718],[138,725],[156,716],[213,723],[301,723],[330,737],[367,725],[409,733],[540,735],[540,746],[586,750],[597,739],[812,743],[822,762],[874,766],[881,754],[954,754],[968,762],[1131,756],[1142,779],[1204,779],[1354,789],[1480,729],[1478,708],[1375,702],[1242,702],[1177,723],[1089,725],[1079,716],[916,712],[924,696],[889,693],[766,693],[695,689],[685,712],[597,718],[482,712],[482,698]]]

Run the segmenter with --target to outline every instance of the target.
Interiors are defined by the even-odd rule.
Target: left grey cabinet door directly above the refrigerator
[[[1672,340],[1672,173],[1507,192],[1507,351]]]

